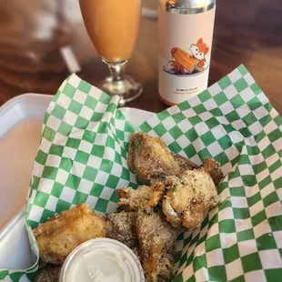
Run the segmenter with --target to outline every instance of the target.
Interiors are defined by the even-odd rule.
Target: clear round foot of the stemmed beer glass
[[[108,76],[103,81],[101,88],[110,96],[120,96],[119,106],[125,106],[126,102],[135,100],[143,92],[143,87],[130,76],[124,76],[122,80],[118,81]]]

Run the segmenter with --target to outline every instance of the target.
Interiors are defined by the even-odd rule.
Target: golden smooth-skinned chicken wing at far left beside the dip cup
[[[106,225],[106,218],[96,215],[88,205],[75,206],[33,230],[39,255],[46,263],[61,265],[78,245],[105,237]]]

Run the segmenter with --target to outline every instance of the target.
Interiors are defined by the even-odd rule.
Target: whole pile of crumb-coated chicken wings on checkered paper
[[[116,187],[115,213],[98,215],[80,204],[35,227],[41,260],[35,281],[57,281],[66,257],[98,237],[132,249],[146,281],[171,281],[176,237],[199,227],[207,211],[219,203],[220,166],[212,158],[197,166],[171,153],[160,138],[142,132],[130,136],[127,165],[140,185]]]

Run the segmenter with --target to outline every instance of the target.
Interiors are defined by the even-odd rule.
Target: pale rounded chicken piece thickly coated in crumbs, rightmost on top
[[[206,212],[217,206],[217,187],[205,169],[187,170],[181,176],[166,178],[167,191],[162,208],[174,226],[199,227]]]

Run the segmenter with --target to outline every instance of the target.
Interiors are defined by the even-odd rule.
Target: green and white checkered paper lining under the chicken
[[[45,114],[26,207],[35,266],[0,270],[0,279],[32,280],[38,250],[30,227],[79,203],[113,212],[116,187],[136,186],[126,166],[134,128],[117,103],[75,75],[60,87]],[[282,280],[281,128],[281,116],[243,65],[139,127],[197,164],[215,157],[225,174],[221,204],[177,239],[173,281]]]

